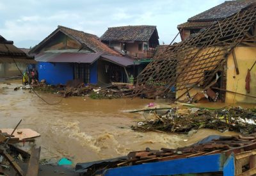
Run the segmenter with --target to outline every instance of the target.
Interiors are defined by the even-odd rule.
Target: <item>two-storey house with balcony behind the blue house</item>
[[[108,28],[100,40],[120,54],[134,58],[133,76],[147,66],[159,45],[156,26],[119,26]]]

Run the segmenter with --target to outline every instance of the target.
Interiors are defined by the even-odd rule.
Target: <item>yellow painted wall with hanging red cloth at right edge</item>
[[[253,63],[256,61],[256,47],[236,47],[235,52],[239,75],[236,74],[233,56],[230,54],[227,60],[227,90],[256,97],[256,65],[250,72],[250,93],[246,93],[245,90],[247,70],[248,68],[251,68]],[[234,93],[226,93],[226,102],[232,103],[233,101],[256,103],[256,99],[251,97],[235,95]]]

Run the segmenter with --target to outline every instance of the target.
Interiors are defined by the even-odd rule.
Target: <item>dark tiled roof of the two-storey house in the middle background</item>
[[[156,26],[120,26],[108,28],[100,37],[103,41],[148,41]],[[157,31],[156,31],[157,33]],[[157,34],[158,37],[158,34]]]

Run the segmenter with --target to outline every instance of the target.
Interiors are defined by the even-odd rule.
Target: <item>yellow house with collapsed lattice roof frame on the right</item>
[[[250,3],[168,47],[138,76],[134,93],[150,85],[165,92],[175,86],[176,100],[195,101],[204,94],[222,102],[255,103],[255,22],[256,4]]]

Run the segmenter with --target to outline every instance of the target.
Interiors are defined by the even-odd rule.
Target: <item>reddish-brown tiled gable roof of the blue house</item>
[[[83,31],[77,31],[76,29],[67,28],[64,26],[58,26],[58,28],[51,33],[51,35],[47,36],[40,44],[36,45],[29,53],[35,52],[38,47],[43,45],[49,38],[54,36],[58,31],[65,33],[65,35],[70,36],[77,42],[85,45],[89,49],[94,52],[106,52],[108,54],[120,55],[118,52],[114,51],[113,49],[109,48],[108,45],[100,42],[99,38],[96,35],[92,35],[90,33],[84,33]]]

